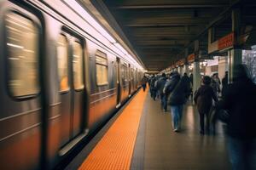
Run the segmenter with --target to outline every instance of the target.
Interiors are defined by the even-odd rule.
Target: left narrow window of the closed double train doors
[[[57,59],[58,59],[58,73],[60,82],[60,91],[67,91],[68,86],[68,42],[67,37],[60,35],[57,42]]]

